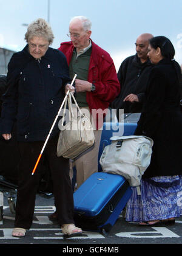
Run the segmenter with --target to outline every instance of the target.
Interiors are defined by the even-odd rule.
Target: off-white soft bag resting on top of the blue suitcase
[[[113,136],[99,163],[104,172],[124,176],[130,186],[140,185],[141,177],[149,167],[153,140],[146,136]]]

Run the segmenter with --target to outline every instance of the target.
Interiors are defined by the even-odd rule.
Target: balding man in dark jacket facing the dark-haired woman
[[[116,109],[118,120],[120,120],[120,109],[124,109],[124,113],[141,112],[144,91],[152,67],[147,57],[149,39],[152,37],[153,35],[149,33],[138,36],[135,43],[136,54],[127,57],[121,63],[118,71],[121,92],[112,102],[112,108]]]

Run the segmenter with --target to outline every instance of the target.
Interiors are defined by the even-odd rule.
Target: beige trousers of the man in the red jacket
[[[90,117],[90,120],[92,120],[89,108],[80,109]],[[98,152],[102,130],[95,130],[95,127],[93,127],[93,129],[95,134],[95,144],[93,147],[81,154],[81,156],[79,156],[78,159],[75,159],[75,161],[70,161],[71,179],[73,178],[73,167],[76,167],[76,189],[78,189],[78,187],[80,187],[80,185],[83,184],[90,175],[98,171]]]

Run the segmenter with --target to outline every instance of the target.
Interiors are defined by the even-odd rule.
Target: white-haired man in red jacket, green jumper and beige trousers
[[[89,19],[84,16],[72,18],[68,34],[71,41],[61,43],[59,47],[66,55],[70,78],[77,74],[76,101],[82,112],[89,114],[92,125],[95,126],[95,145],[92,150],[86,151],[75,160],[77,189],[92,173],[98,171],[103,118],[109,104],[120,93],[120,83],[113,60],[90,39],[91,25]]]

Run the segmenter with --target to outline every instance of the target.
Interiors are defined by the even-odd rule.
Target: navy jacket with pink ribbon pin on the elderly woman
[[[70,82],[66,57],[49,47],[36,60],[28,46],[13,54],[8,64],[7,92],[3,96],[0,130],[11,133],[17,120],[19,141],[43,141],[58,114],[64,85]],[[59,132],[55,124],[51,137]]]

